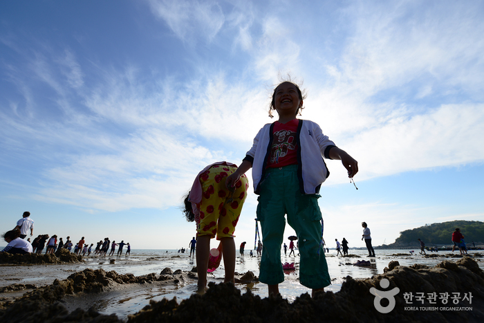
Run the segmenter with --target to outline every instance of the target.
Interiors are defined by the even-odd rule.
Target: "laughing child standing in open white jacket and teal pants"
[[[259,194],[257,219],[261,222],[263,252],[259,281],[268,284],[269,295],[279,294],[284,280],[281,244],[286,226],[296,231],[299,241],[299,281],[317,290],[331,284],[321,243],[322,215],[317,204],[319,187],[329,175],[322,156],[341,160],[349,178],[358,172],[357,161],[339,149],[312,121],[297,119],[303,109],[299,86],[282,82],[272,93],[272,110],[279,120],[266,124],[239,169],[227,177],[233,187],[252,167],[254,192]]]

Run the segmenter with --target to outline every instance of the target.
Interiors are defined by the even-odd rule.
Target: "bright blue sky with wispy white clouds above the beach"
[[[363,247],[362,221],[373,246],[483,221],[482,35],[473,0],[0,1],[0,231],[29,211],[35,237],[187,248],[183,195],[206,165],[240,165],[288,75],[299,118],[360,169],[355,190],[326,160],[329,248]]]

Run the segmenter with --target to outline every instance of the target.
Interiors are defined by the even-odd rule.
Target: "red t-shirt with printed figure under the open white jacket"
[[[272,132],[272,147],[267,167],[297,165],[296,135],[299,119],[287,123],[276,121]]]

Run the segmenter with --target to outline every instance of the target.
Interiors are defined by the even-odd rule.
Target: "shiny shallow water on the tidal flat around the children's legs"
[[[177,250],[131,250],[130,257],[111,257],[115,259],[115,264],[110,264],[109,259],[100,257],[86,257],[86,263],[76,265],[75,270],[71,268],[70,271],[78,271],[84,268],[98,269],[102,268],[106,271],[115,270],[117,273],[133,273],[133,275],[147,275],[149,273],[159,274],[164,268],[171,268],[175,271],[192,270],[196,266],[194,257],[189,257],[187,253],[178,253]],[[436,258],[425,258],[421,255],[401,256],[408,251],[405,250],[377,250],[375,258],[366,257],[366,250],[349,250],[352,257],[336,257],[335,251],[330,250],[326,253],[326,261],[328,263],[328,270],[331,275],[332,284],[325,288],[326,291],[336,293],[340,290],[344,278],[351,276],[353,278],[368,278],[374,275],[383,273],[385,267],[388,266],[389,261],[397,260],[400,265],[411,266],[413,264],[424,264],[427,266],[435,266],[444,259],[457,261],[458,258],[445,258],[445,255],[451,252],[429,252],[430,255],[438,255]],[[472,252],[469,252],[472,253]],[[248,270],[255,275],[259,275],[260,258],[250,257],[245,252],[245,255],[236,257],[236,272],[246,273]],[[400,256],[394,256],[400,254]],[[456,255],[456,252],[454,252]],[[370,260],[371,266],[353,266],[357,260]],[[481,259],[478,264],[484,268],[484,262]],[[286,271],[285,281],[279,284],[279,291],[282,297],[288,299],[289,302],[294,302],[296,297],[301,294],[310,293],[310,289],[299,284],[299,257],[282,256],[281,262],[291,263],[295,262],[296,270]],[[221,266],[212,274],[207,275],[209,282],[223,281],[223,262]],[[127,315],[140,311],[143,307],[149,304],[151,299],[159,301],[162,298],[172,299],[176,297],[178,302],[182,299],[187,299],[190,295],[196,292],[196,281],[180,282],[179,286],[153,286],[142,290],[133,290],[128,293],[122,291],[103,293],[100,299],[93,302],[93,306],[100,313],[111,314],[115,313],[120,318],[126,318]],[[236,284],[236,287],[245,293],[248,289],[254,295],[266,297],[268,289],[266,284],[251,283],[251,284]]]

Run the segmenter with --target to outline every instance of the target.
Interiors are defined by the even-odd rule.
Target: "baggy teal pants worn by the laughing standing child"
[[[259,281],[275,285],[284,281],[281,245],[285,214],[299,241],[299,282],[308,288],[323,288],[331,284],[328,264],[321,243],[321,210],[319,195],[301,194],[297,165],[270,168],[261,182],[257,220],[262,229],[262,259]]]

